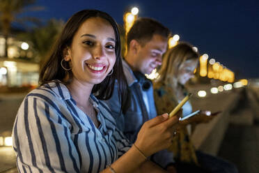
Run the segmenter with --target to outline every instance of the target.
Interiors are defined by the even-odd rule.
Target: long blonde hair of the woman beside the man
[[[192,45],[188,43],[178,43],[175,47],[167,50],[162,60],[162,66],[159,70],[157,82],[169,84],[174,87],[177,85],[177,73],[185,61],[198,59],[198,52],[194,51]]]

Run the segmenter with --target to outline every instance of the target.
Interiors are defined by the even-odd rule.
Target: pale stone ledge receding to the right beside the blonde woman
[[[191,140],[196,149],[217,155],[228,128],[230,111],[237,105],[239,98],[240,92],[231,91],[210,98],[203,98],[203,100],[198,98],[192,99],[194,110],[222,111],[221,114],[218,114],[209,123],[201,123],[196,126],[194,133],[191,135]]]

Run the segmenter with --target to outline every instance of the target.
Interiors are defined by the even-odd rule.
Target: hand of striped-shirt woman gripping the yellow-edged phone
[[[168,114],[162,114],[143,124],[135,145],[145,156],[151,156],[153,153],[171,146],[171,140],[177,128],[180,114],[182,114],[182,110],[170,119]]]

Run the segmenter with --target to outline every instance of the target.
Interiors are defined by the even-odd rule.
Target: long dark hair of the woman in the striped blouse
[[[117,24],[113,18],[100,10],[81,10],[70,17],[61,32],[61,36],[56,41],[56,45],[53,47],[52,54],[40,70],[39,84],[46,84],[52,80],[60,80],[65,84],[69,84],[72,81],[72,70],[66,71],[61,67],[63,50],[66,47],[70,47],[74,34],[81,24],[91,17],[101,17],[102,19],[107,20],[111,24],[111,27],[113,27],[116,36],[116,62],[113,66],[113,73],[107,75],[100,84],[95,84],[92,93],[101,100],[107,100],[111,98],[115,81],[118,80],[118,94],[121,96],[120,101],[122,101],[123,96],[126,96],[127,85],[120,57],[120,35]],[[63,61],[63,66],[65,66],[65,68],[70,68],[69,63],[66,61]],[[68,77],[68,80],[65,80],[65,77]]]

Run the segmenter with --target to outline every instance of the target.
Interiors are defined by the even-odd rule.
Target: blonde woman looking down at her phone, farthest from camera
[[[154,97],[157,113],[170,112],[187,95],[185,84],[194,77],[194,69],[198,65],[198,53],[188,43],[179,43],[164,54],[159,78],[154,82]],[[182,107],[182,116],[192,112],[191,103]],[[173,151],[175,167],[178,172],[237,172],[237,169],[226,160],[196,151],[191,144],[185,124],[210,121],[207,111],[188,119],[173,139],[170,150]]]

